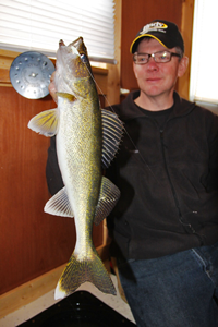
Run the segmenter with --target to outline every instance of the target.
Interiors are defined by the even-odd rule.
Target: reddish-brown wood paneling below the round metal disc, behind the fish
[[[50,216],[46,184],[49,138],[27,128],[32,117],[55,108],[50,96],[31,100],[0,87],[0,294],[68,262],[74,219]],[[102,225],[94,229],[102,244]]]

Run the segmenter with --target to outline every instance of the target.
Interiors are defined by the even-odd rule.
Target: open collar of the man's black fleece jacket
[[[128,97],[121,102],[119,117],[121,120],[126,121],[140,117],[145,117],[142,110],[135,105],[134,99],[140,96],[140,90],[131,92]],[[173,94],[174,106],[173,111],[170,114],[172,117],[182,117],[191,112],[195,104],[190,102],[179,96],[177,92]]]

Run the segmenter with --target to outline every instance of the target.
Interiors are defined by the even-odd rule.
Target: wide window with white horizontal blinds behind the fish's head
[[[0,0],[0,47],[55,57],[83,36],[89,59],[114,61],[113,0]]]

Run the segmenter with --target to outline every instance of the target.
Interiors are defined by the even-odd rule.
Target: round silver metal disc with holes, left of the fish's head
[[[40,99],[49,94],[48,85],[53,71],[53,63],[45,55],[27,51],[12,62],[11,84],[23,97]]]

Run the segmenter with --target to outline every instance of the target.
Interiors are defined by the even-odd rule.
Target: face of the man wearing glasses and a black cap
[[[155,53],[168,50],[154,38],[144,38],[138,47],[138,53]],[[175,49],[170,49],[175,53]],[[133,62],[133,71],[137,80],[141,93],[148,97],[172,96],[177,78],[185,72],[183,59],[172,57],[171,61],[166,63],[157,63],[154,58],[145,64],[135,64]]]

